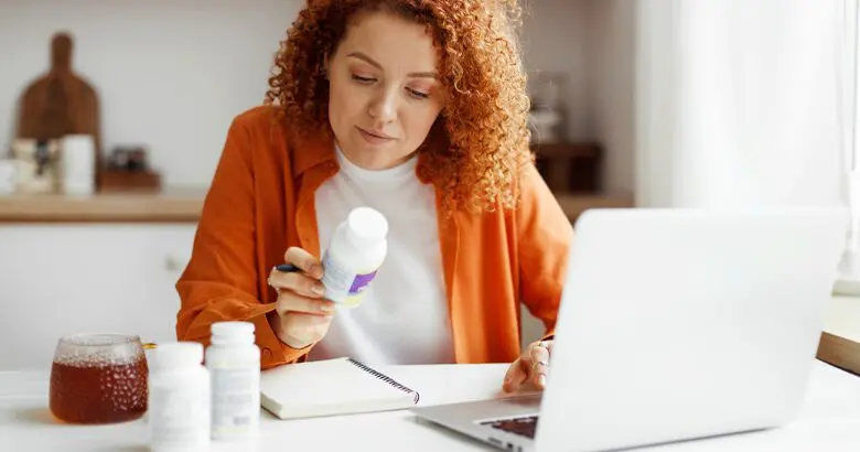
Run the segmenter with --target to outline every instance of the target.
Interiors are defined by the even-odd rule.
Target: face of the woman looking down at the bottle
[[[356,17],[326,61],[329,118],[351,162],[383,170],[406,161],[442,109],[437,50],[423,25],[388,12]]]

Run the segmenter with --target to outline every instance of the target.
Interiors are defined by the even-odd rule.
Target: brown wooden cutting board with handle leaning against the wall
[[[53,36],[51,69],[24,90],[15,137],[53,140],[67,134],[89,134],[95,141],[94,174],[98,176],[103,161],[98,95],[73,72],[73,47],[71,35]]]

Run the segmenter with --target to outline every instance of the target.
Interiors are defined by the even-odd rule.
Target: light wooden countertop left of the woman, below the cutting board
[[[196,223],[205,190],[0,196],[0,223]]]

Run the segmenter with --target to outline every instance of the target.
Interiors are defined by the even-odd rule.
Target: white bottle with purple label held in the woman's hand
[[[334,229],[322,259],[325,298],[355,308],[388,252],[388,220],[370,207],[356,207]]]

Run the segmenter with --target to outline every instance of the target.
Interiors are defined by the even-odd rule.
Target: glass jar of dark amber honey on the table
[[[147,412],[149,368],[138,336],[60,340],[51,368],[51,412],[71,423],[115,423]]]

